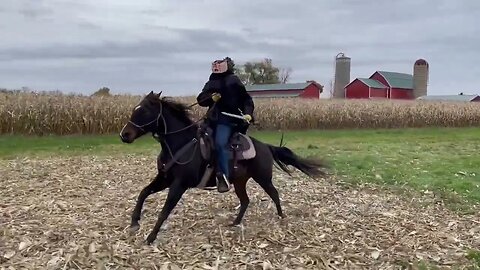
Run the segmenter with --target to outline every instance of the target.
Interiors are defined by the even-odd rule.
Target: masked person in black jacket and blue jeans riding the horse
[[[209,107],[207,123],[214,131],[217,153],[217,189],[230,190],[228,142],[235,131],[246,133],[252,120],[254,104],[240,79],[233,73],[234,62],[230,57],[212,63],[212,74],[197,96],[200,106]],[[243,116],[243,119],[224,115],[222,112]],[[247,124],[246,124],[246,123]]]

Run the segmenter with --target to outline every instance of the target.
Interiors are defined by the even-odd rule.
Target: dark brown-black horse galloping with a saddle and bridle
[[[161,144],[162,150],[157,157],[157,175],[141,190],[131,215],[130,231],[136,232],[140,228],[140,215],[145,199],[151,194],[169,188],[155,226],[146,239],[147,244],[155,241],[160,227],[183,194],[188,189],[199,186],[209,166],[209,160],[205,159],[199,147],[198,130],[203,119],[193,121],[190,117],[190,106],[161,94],[162,92],[156,94],[153,91],[147,94],[132,109],[130,119],[119,134],[123,143],[130,144],[139,137],[151,133]],[[278,191],[272,183],[274,162],[290,176],[292,171],[288,165],[294,166],[311,178],[327,175],[325,169],[329,166],[320,159],[301,158],[289,148],[282,146],[282,143],[277,147],[246,136],[251,140],[255,156],[239,160],[233,170],[230,182],[240,200],[240,209],[231,225],[239,225],[247,210],[250,201],[246,184],[250,178],[269,195],[276,206],[277,215],[283,219],[285,215]],[[204,189],[215,186],[215,174],[212,174]]]

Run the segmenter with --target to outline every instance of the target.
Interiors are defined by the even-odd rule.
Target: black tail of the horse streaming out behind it
[[[272,152],[273,159],[284,172],[291,175],[292,171],[287,168],[287,165],[291,165],[312,178],[327,175],[324,169],[329,168],[329,166],[324,161],[299,157],[289,148],[282,146],[282,142],[283,134],[280,146],[268,145],[268,147]]]

